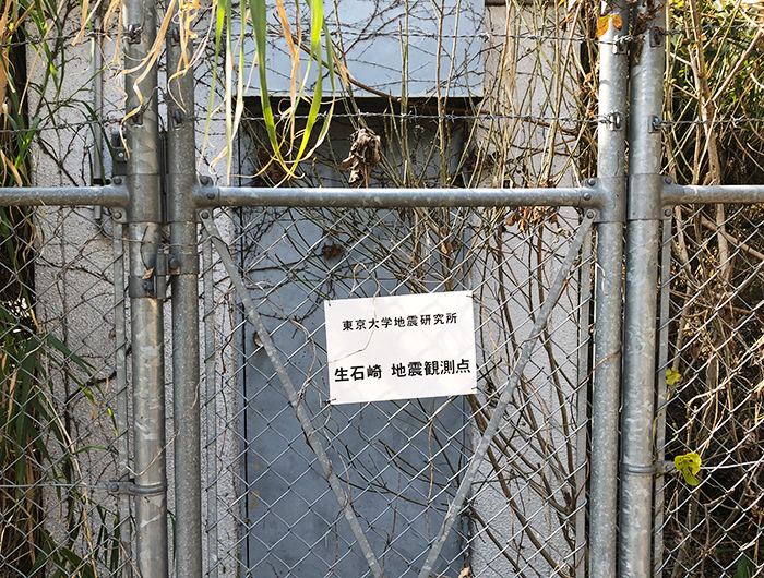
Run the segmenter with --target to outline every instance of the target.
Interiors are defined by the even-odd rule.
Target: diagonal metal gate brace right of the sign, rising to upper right
[[[475,481],[475,477],[477,475],[478,470],[480,469],[480,465],[482,463],[482,460],[486,457],[488,446],[490,445],[491,439],[493,438],[496,433],[499,431],[499,425],[501,425],[501,421],[504,417],[504,411],[506,410],[506,406],[509,406],[512,395],[514,394],[514,390],[517,387],[517,384],[520,383],[520,378],[523,375],[525,365],[530,360],[530,354],[533,353],[533,350],[536,346],[536,341],[544,332],[544,328],[546,327],[547,322],[549,321],[549,315],[551,314],[552,309],[554,308],[554,304],[557,303],[558,299],[560,299],[560,296],[562,294],[562,288],[564,287],[565,280],[568,279],[571,270],[573,269],[573,264],[578,257],[581,246],[584,244],[584,239],[586,238],[586,234],[592,229],[592,225],[594,224],[595,217],[596,213],[594,210],[587,210],[584,214],[584,218],[581,221],[578,231],[573,238],[573,242],[571,243],[571,246],[568,250],[568,254],[565,255],[565,258],[560,266],[560,270],[558,272],[557,277],[554,278],[554,282],[549,289],[549,293],[547,293],[547,299],[544,301],[544,304],[541,305],[538,312],[538,316],[536,317],[534,326],[530,328],[530,334],[521,347],[517,363],[515,363],[515,366],[512,369],[512,376],[502,388],[503,392],[501,394],[501,397],[499,398],[499,402],[497,404],[493,410],[493,414],[491,416],[488,425],[486,425],[486,431],[484,432],[482,437],[480,438],[480,442],[478,443],[478,446],[475,449],[475,454],[473,455],[473,458],[469,462],[467,473],[462,479],[462,483],[459,484],[458,490],[456,491],[454,501],[449,506],[449,511],[446,513],[445,519],[443,520],[443,526],[440,530],[440,533],[438,534],[438,538],[435,538],[434,542],[432,543],[432,547],[430,549],[430,553],[427,556],[427,561],[425,562],[425,565],[421,567],[421,571],[419,573],[419,578],[429,578],[430,573],[432,571],[432,568],[435,564],[435,561],[438,559],[438,556],[440,555],[441,550],[443,550],[443,545],[445,544],[445,540],[449,537],[449,533],[451,532],[451,528],[456,521],[456,517],[462,511],[464,503],[467,499],[467,495],[469,494],[469,490],[473,485],[473,482]]]

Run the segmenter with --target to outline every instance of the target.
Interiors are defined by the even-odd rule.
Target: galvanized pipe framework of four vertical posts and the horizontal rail
[[[643,0],[637,8],[654,7]],[[589,503],[589,576],[644,577],[652,571],[652,420],[656,381],[656,296],[659,227],[664,207],[680,203],[756,203],[764,185],[685,186],[660,174],[660,109],[665,74],[666,8],[652,11],[641,34],[631,37],[625,0],[608,2],[623,25],[599,39],[600,84],[597,178],[581,188],[559,189],[254,189],[215,188],[194,173],[193,71],[175,75],[182,60],[177,35],[168,35],[169,255],[162,242],[157,65],[143,77],[143,97],[133,88],[139,72],[126,75],[128,149],[126,182],[103,186],[0,188],[0,206],[96,205],[128,225],[131,303],[135,479],[135,559],[139,574],[168,576],[165,463],[164,322],[165,274],[172,282],[172,371],[175,400],[176,573],[201,577],[201,384],[199,360],[198,212],[231,206],[571,206],[596,210],[597,275],[593,360]],[[126,62],[143,61],[156,36],[154,0],[126,0]],[[625,31],[621,34],[619,31]],[[130,33],[130,34],[129,34]],[[628,43],[642,45],[640,62],[629,62]],[[128,65],[127,68],[132,68]],[[631,69],[631,70],[630,70]],[[630,74],[631,72],[631,74]],[[625,173],[626,87],[631,77],[630,153]],[[182,104],[182,106],[181,106]],[[188,110],[191,113],[187,112]],[[628,178],[628,188],[626,188]],[[626,189],[628,206],[626,206]],[[626,280],[623,225],[628,222]],[[120,288],[121,289],[121,288]],[[625,297],[624,297],[625,296]],[[621,308],[623,325],[621,324]],[[623,337],[622,335],[623,328]],[[623,344],[623,435],[619,468],[619,390]],[[636,344],[636,347],[634,346]],[[208,361],[208,360],[207,360]],[[208,368],[207,368],[208,371]],[[617,515],[620,470],[620,523]],[[618,531],[620,529],[620,540]],[[617,545],[620,557],[617,558]],[[578,565],[583,568],[584,565]],[[583,576],[585,570],[582,569]],[[422,576],[427,573],[422,571]]]

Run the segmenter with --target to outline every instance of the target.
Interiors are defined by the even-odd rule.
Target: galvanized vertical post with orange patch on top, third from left
[[[629,10],[625,0],[602,3],[609,14],[599,39],[597,178],[606,202],[597,224],[589,576],[616,575],[618,511],[618,411],[621,378],[623,222],[625,220],[625,111],[629,88]],[[620,26],[618,21],[621,19]]]

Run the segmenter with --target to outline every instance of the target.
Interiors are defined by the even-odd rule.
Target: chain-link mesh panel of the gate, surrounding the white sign
[[[268,207],[232,217],[222,234],[237,249],[240,274],[373,555],[384,575],[418,571],[566,253],[577,213]],[[435,564],[438,575],[470,568],[479,576],[572,576],[583,559],[576,528],[583,530],[586,497],[578,446],[586,372],[582,381],[580,362],[588,345],[578,327],[588,327],[592,262],[586,254],[576,263]],[[368,555],[229,280],[211,261],[205,272],[205,330],[214,332],[207,356],[215,356],[205,404],[211,575],[370,575]],[[478,395],[329,404],[323,300],[458,289],[474,292]]]

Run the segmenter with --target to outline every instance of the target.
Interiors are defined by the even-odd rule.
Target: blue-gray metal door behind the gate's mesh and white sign
[[[401,294],[442,282],[420,275],[417,286],[416,275],[394,270],[393,263],[369,265],[371,254],[391,241],[413,242],[398,237],[395,209],[255,209],[246,212],[243,221],[246,279],[300,402],[329,441],[333,470],[385,576],[407,575],[422,565],[470,454],[467,401],[331,406],[322,371],[322,305],[329,298]],[[357,237],[371,231],[373,240]],[[247,567],[258,576],[363,576],[369,565],[362,547],[343,519],[273,364],[250,327],[242,339]],[[466,531],[465,521],[437,571],[457,576],[464,568]]]

